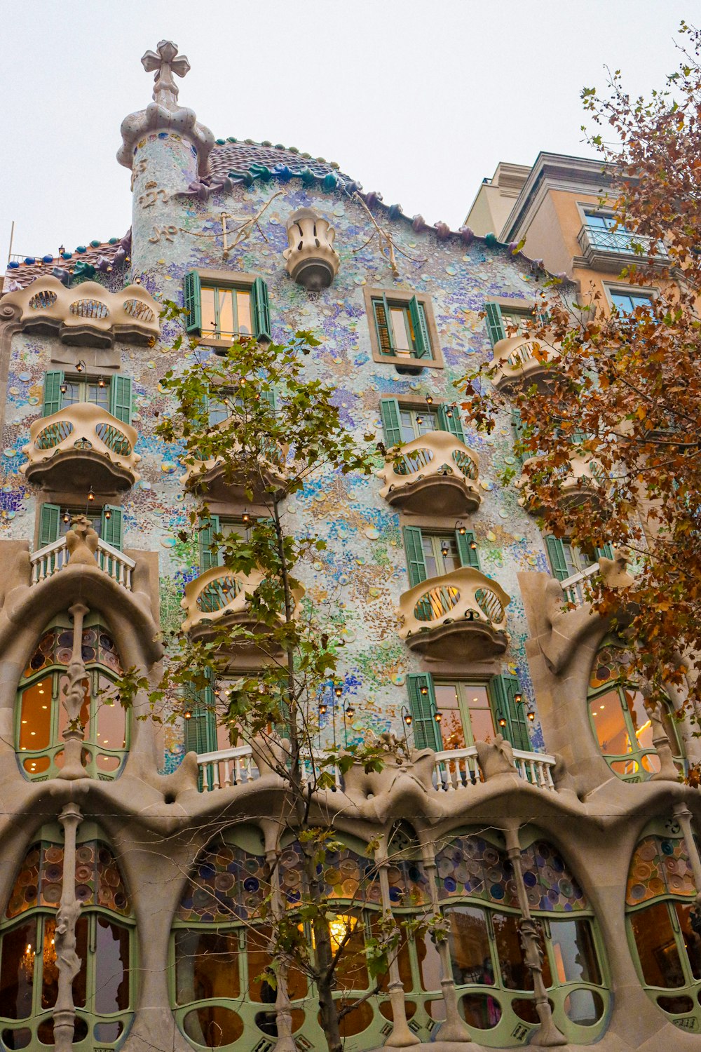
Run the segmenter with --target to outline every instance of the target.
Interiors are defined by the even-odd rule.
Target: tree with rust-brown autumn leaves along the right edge
[[[590,588],[595,609],[621,630],[625,621],[635,641],[626,675],[652,706],[687,697],[698,721],[701,35],[684,24],[680,33],[679,70],[650,100],[631,98],[620,72],[607,96],[582,92],[602,128],[590,137],[611,181],[601,203],[613,201],[615,229],[632,246],[621,278],[640,302],[609,309],[600,292],[582,288],[573,302],[571,286],[545,283],[548,317],[528,332],[541,379],[512,386],[506,402],[520,414],[521,495],[544,529],[591,555],[613,544],[634,564],[623,591],[597,579]],[[495,357],[463,381],[463,405],[487,430],[504,402],[491,383],[503,365]],[[589,465],[574,488],[573,457]]]

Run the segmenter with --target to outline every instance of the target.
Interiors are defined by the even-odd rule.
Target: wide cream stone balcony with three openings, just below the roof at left
[[[21,311],[27,332],[58,333],[64,343],[110,347],[115,340],[148,344],[160,336],[160,304],[141,285],[110,292],[95,281],[66,288],[46,275],[2,298]]]

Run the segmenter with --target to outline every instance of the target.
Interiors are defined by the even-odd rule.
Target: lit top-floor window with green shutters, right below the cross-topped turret
[[[215,343],[253,336],[270,342],[270,301],[263,278],[253,281],[202,278],[190,270],[183,281],[183,305],[188,312],[186,330]]]

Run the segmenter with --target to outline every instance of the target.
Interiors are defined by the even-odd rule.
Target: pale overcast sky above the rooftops
[[[180,101],[215,137],[297,146],[457,228],[499,160],[584,154],[579,92],[621,68],[662,86],[695,4],[677,0],[0,0],[0,257],[121,237],[122,119],[141,56],[176,41]]]

